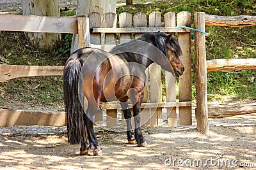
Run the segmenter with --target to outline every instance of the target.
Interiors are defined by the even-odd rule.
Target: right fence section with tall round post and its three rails
[[[236,17],[221,17],[207,15],[202,12],[195,12],[195,27],[205,31],[205,25],[229,26],[229,27],[248,27],[256,25],[256,16],[241,15]],[[208,108],[207,108],[207,71],[237,70],[237,69],[256,69],[256,59],[219,59],[206,60],[205,35],[201,32],[195,34],[195,71],[196,71],[196,121],[197,129],[204,134],[209,134]],[[236,110],[241,107],[236,106]],[[244,109],[244,107],[243,107]],[[247,109],[248,110],[248,109]],[[252,109],[244,111],[255,113],[255,104]],[[216,110],[215,110],[216,111]],[[220,111],[220,110],[218,110]],[[226,116],[234,115],[226,112]],[[222,112],[223,113],[223,112]],[[210,117],[216,117],[212,114]]]

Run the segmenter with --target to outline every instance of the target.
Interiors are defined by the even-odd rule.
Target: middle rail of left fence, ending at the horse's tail
[[[0,82],[31,76],[63,76],[63,66],[18,66],[0,64]]]

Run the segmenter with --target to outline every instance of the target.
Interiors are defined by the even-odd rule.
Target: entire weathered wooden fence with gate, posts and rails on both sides
[[[130,13],[121,13],[119,15],[119,27],[116,25],[117,15],[115,13],[106,13],[104,16],[105,24],[100,23],[99,13],[90,13],[88,17],[90,19],[85,17],[0,15],[0,31],[78,33],[79,48],[92,46],[107,51],[115,45],[129,41],[129,39],[138,38],[145,32],[177,32],[184,53],[181,60],[186,67],[184,75],[179,78],[179,101],[176,99],[175,78],[167,72],[164,72],[165,78],[163,80],[166,83],[166,95],[164,96],[166,99],[165,102],[162,101],[164,94],[162,94],[161,68],[154,64],[146,70],[148,75],[147,87],[150,87],[150,90],[145,89],[146,95],[142,104],[141,118],[145,125],[158,125],[162,118],[162,109],[166,107],[168,124],[175,126],[177,125],[177,108],[179,108],[179,124],[191,125],[191,36],[189,30],[175,27],[176,23],[189,27],[191,25],[190,13],[182,11],[177,16],[173,12],[166,13],[164,14],[164,24],[161,23],[160,13],[150,13],[148,21],[143,13],[137,13],[133,17]],[[196,12],[194,22],[196,29],[205,31],[205,24],[255,26],[256,17],[221,17]],[[104,27],[100,27],[100,25]],[[256,59],[206,60],[205,35],[201,32],[195,32],[195,52],[196,121],[198,131],[208,134],[207,71],[255,69]],[[62,76],[62,72],[63,67],[61,66],[0,65],[0,82],[26,76]],[[100,108],[107,112],[106,124],[108,126],[116,125],[116,113],[117,109],[120,108],[119,104],[100,104]],[[24,118],[22,120],[22,117],[25,117],[26,120]],[[216,117],[216,115],[210,117]],[[97,113],[97,123],[102,124],[101,112]],[[0,109],[0,127],[7,125],[65,125],[65,113],[36,113]]]

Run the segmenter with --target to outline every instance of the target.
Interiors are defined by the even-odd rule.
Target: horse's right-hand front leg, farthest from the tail
[[[135,125],[135,139],[138,143],[138,146],[146,146],[147,142],[146,139],[143,137],[142,132],[141,132],[141,101],[143,99],[143,90],[138,93],[138,100],[136,103],[133,105],[133,117],[134,117],[134,125]]]

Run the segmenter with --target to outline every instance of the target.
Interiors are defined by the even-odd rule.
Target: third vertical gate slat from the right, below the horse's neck
[[[161,13],[150,13],[149,27],[161,27]],[[162,101],[162,81],[161,69],[157,64],[153,63],[149,66],[149,83],[150,83],[150,102]],[[159,125],[159,120],[162,117],[162,108],[150,108],[152,126]]]

